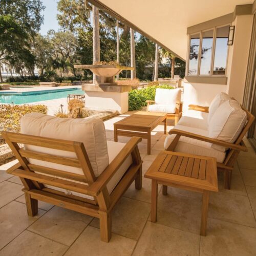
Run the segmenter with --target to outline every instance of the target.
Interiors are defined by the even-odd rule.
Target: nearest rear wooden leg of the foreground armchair
[[[112,217],[111,213],[99,211],[100,239],[103,242],[109,242],[111,239]]]

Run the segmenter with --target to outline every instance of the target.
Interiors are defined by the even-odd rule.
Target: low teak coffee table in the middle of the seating
[[[147,139],[147,154],[151,154],[151,132],[159,123],[164,123],[164,134],[166,134],[167,114],[162,112],[138,111],[114,123],[114,139],[117,142],[120,136],[138,136]]]

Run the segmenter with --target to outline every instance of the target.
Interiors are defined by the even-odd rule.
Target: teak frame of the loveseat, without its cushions
[[[247,122],[238,136],[237,140],[234,143],[229,143],[226,141],[218,140],[218,139],[212,139],[210,137],[201,136],[194,133],[189,133],[185,131],[181,131],[178,129],[172,129],[169,131],[169,134],[176,134],[174,140],[167,148],[167,151],[174,151],[175,147],[180,139],[181,136],[209,142],[212,144],[224,146],[226,148],[229,148],[226,153],[226,157],[223,161],[223,163],[217,162],[217,168],[218,171],[224,172],[224,187],[225,189],[230,189],[230,183],[231,183],[231,174],[233,170],[234,162],[237,160],[237,157],[240,153],[240,151],[247,152],[247,147],[245,146],[243,142],[243,137],[246,135],[247,131],[249,130],[250,126],[252,125],[254,121],[254,116],[248,112],[243,106],[241,105],[241,108],[246,112],[247,114]],[[201,112],[208,113],[208,107],[207,106],[199,106],[199,105],[189,105],[190,110],[196,110]]]

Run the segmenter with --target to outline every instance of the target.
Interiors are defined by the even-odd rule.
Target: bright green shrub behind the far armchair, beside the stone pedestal
[[[149,86],[140,90],[132,90],[129,92],[129,111],[140,110],[142,106],[146,106],[146,100],[154,100],[157,88],[174,89],[168,84],[162,84],[161,86]]]

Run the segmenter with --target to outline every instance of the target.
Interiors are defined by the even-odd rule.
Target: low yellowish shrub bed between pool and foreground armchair
[[[47,106],[0,104],[0,140],[2,131],[19,133],[20,117],[32,112],[47,114]]]

